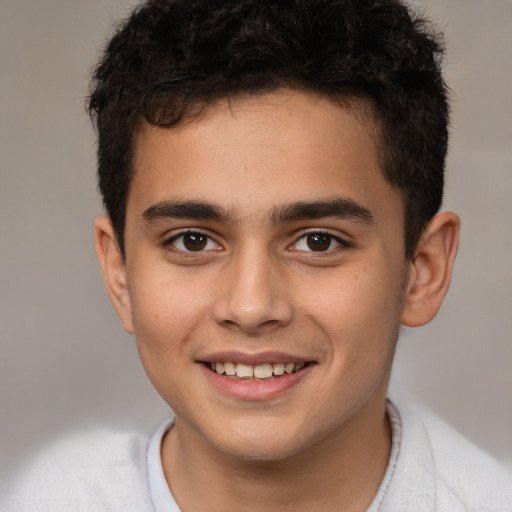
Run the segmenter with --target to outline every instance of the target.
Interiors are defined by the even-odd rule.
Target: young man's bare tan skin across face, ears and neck
[[[376,140],[363,109],[296,91],[219,101],[176,129],[137,134],[126,260],[106,217],[96,249],[123,326],[176,413],[162,459],[184,511],[371,504],[389,458],[399,326],[435,316],[459,226],[438,214],[406,261],[402,196]],[[334,214],[335,201],[360,209]],[[198,202],[215,211],[198,218]],[[290,215],[298,203],[330,213]],[[269,351],[309,362],[270,397],[223,393],[203,364]]]

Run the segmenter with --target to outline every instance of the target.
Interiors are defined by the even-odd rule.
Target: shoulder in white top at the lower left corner
[[[7,492],[7,512],[144,511],[149,439],[106,429],[62,439],[38,454]]]

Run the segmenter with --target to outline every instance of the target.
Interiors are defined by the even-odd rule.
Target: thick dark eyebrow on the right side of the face
[[[278,206],[270,213],[270,220],[274,226],[289,221],[314,220],[325,217],[355,219],[366,224],[373,222],[372,212],[368,208],[345,197],[337,197],[325,201],[298,201]]]

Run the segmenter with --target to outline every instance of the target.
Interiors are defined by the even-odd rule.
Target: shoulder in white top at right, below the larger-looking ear
[[[402,407],[400,416],[397,477],[412,486],[409,491],[421,486],[431,510],[512,512],[512,474],[506,468],[429,412]]]

